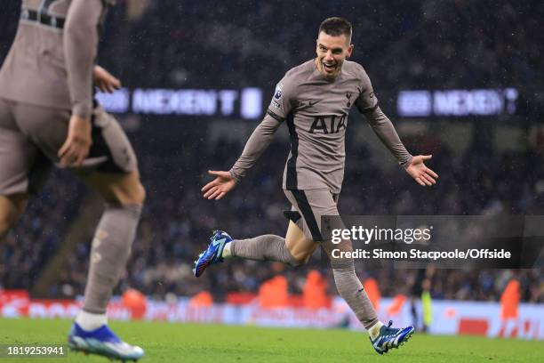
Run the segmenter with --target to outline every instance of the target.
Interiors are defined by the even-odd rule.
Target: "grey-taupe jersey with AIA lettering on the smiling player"
[[[354,104],[364,113],[378,106],[370,79],[356,62],[346,60],[333,79],[324,77],[314,60],[285,74],[268,107],[268,115],[285,120],[291,135],[284,189],[340,192],[348,113]]]

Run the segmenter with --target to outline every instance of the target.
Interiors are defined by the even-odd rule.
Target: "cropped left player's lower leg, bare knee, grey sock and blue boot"
[[[82,179],[106,200],[92,240],[84,306],[68,336],[73,349],[116,359],[139,359],[140,347],[122,342],[109,330],[106,308],[121,278],[140,221],[145,191],[137,171],[92,173]]]

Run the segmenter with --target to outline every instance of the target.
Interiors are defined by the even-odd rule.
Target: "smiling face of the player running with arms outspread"
[[[336,77],[342,69],[344,60],[353,52],[348,36],[330,36],[324,31],[317,38],[316,67],[325,77]]]

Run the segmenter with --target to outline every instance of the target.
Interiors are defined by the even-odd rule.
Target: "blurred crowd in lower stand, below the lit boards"
[[[168,149],[146,153],[143,144],[136,145],[140,150],[142,180],[148,189],[148,201],[119,292],[132,287],[163,298],[167,293],[191,296],[205,289],[221,301],[228,292],[256,293],[263,281],[277,273],[284,274],[293,294],[300,294],[309,269],[319,269],[327,275],[326,265],[316,256],[308,266],[295,270],[285,269],[277,263],[237,261],[212,269],[203,278],[192,276],[193,260],[206,245],[213,229],[228,230],[236,238],[265,232],[284,235],[286,221],[282,212],[288,208],[288,204],[280,183],[283,156],[288,146],[282,141],[274,142],[248,180],[220,202],[204,200],[199,189],[207,180],[208,166],[220,167],[234,161],[239,152],[237,142],[220,141],[211,149],[203,149],[196,142],[186,142],[182,146],[182,154],[186,157],[176,158],[167,158],[163,154],[168,153]],[[199,157],[193,157],[195,155]],[[447,159],[447,155],[445,150],[436,154],[440,159],[435,161],[436,164],[455,165]],[[544,212],[543,190],[532,193],[544,178],[543,171],[520,169],[529,160],[544,161],[542,155],[496,155],[486,158],[484,164],[468,167],[470,159],[477,159],[474,151],[470,150],[460,165],[441,170],[441,181],[435,190],[423,190],[412,185],[408,177],[399,178],[396,173],[384,173],[378,165],[372,165],[372,157],[369,157],[369,151],[363,145],[358,145],[351,152],[348,150],[348,156],[346,181],[340,198],[340,211],[344,214]],[[363,159],[368,162],[361,167],[360,160]],[[477,173],[466,173],[467,170]],[[507,178],[506,173],[522,176]],[[26,214],[28,217],[12,233],[7,246],[0,247],[4,266],[0,280],[4,287],[31,286],[32,279],[38,276],[40,267],[54,254],[62,233],[67,230],[70,219],[65,218],[75,213],[65,205],[80,194],[52,191],[53,186],[54,190],[69,190],[68,180],[62,182],[55,179],[48,185],[51,188],[44,191],[43,198],[31,204],[30,213]],[[84,194],[83,190],[79,191]],[[71,200],[67,200],[67,195]],[[78,198],[83,199],[76,197],[76,200]],[[53,212],[45,213],[49,208]],[[52,296],[70,297],[84,291],[91,239],[91,234],[82,238],[69,254],[60,280],[51,286]],[[16,248],[21,246],[24,248]],[[31,270],[22,269],[24,266]],[[377,278],[382,295],[388,296],[403,292],[409,294],[415,272],[360,270],[359,275],[361,278]],[[544,280],[539,270],[437,270],[432,294],[444,299],[496,301],[513,274],[520,279],[524,288],[524,301],[544,301]],[[332,286],[330,293],[334,294],[332,280],[329,282],[329,286]]]

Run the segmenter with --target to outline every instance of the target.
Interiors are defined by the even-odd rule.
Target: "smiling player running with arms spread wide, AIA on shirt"
[[[216,231],[210,246],[195,262],[200,276],[212,263],[241,257],[257,261],[284,262],[298,266],[308,261],[321,244],[331,260],[337,289],[368,330],[372,346],[382,354],[398,348],[413,333],[413,327],[393,328],[380,322],[361,282],[353,259],[333,258],[332,249],[351,251],[349,239],[333,245],[322,237],[321,216],[339,215],[337,201],[344,176],[344,140],[351,106],[368,119],[373,131],[396,157],[404,170],[421,186],[436,183],[435,172],[404,148],[394,126],[378,106],[363,67],[346,60],[353,52],[351,24],[341,18],[324,20],[316,42],[317,56],[289,70],[276,86],[267,115],[247,141],[242,156],[228,172],[211,171],[216,178],[203,188],[204,198],[220,199],[232,190],[268,147],[277,128],[286,123],[291,134],[291,153],[284,169],[283,188],[292,204],[285,238],[264,235],[232,239]]]

